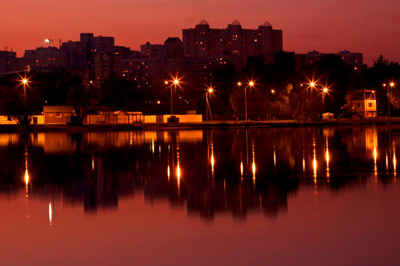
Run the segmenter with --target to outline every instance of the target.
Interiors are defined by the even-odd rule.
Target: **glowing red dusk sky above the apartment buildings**
[[[205,19],[224,28],[237,19],[243,28],[266,20],[283,30],[283,49],[306,53],[362,52],[364,63],[383,54],[400,62],[399,0],[12,0],[0,8],[0,49],[22,56],[46,46],[45,38],[78,40],[80,32],[114,36],[115,45],[182,38],[182,28]]]

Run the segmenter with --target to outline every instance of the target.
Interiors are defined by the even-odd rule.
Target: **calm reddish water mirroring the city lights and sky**
[[[399,126],[0,134],[2,265],[399,265]]]

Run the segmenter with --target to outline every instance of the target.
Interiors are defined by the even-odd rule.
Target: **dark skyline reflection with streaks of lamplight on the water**
[[[286,212],[288,195],[299,186],[343,189],[362,185],[368,173],[385,185],[395,182],[398,132],[352,127],[0,134],[0,155],[12,166],[0,170],[7,177],[1,182],[3,192],[18,189],[22,151],[26,198],[51,194],[91,213],[117,208],[119,198],[144,191],[148,202],[185,204],[188,213],[207,219],[225,212],[242,219],[250,210],[276,216]]]

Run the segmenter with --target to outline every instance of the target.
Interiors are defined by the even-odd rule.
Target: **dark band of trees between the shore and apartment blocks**
[[[262,56],[252,56],[240,71],[233,65],[225,65],[201,81],[184,73],[178,77],[179,84],[172,85],[174,114],[205,113],[207,86],[214,88],[208,98],[214,119],[244,119],[244,90],[247,118],[251,120],[302,120],[316,119],[323,112],[338,114],[346,95],[358,89],[377,91],[380,115],[387,111],[387,96],[392,108],[400,109],[400,84],[396,83],[400,78],[400,65],[382,55],[374,60],[372,67],[363,65],[356,71],[334,54],[324,56],[309,67],[299,68],[294,54],[283,51],[276,53],[270,63],[265,63]],[[24,78],[27,78],[26,84],[22,82]],[[40,113],[44,105],[72,105],[77,120],[96,110],[167,114],[170,112],[171,80],[167,81],[168,84],[148,80],[140,83],[112,78],[94,87],[85,74],[66,70],[31,71],[26,76],[9,74],[0,77],[0,114],[14,117],[21,124],[28,123],[29,116]],[[249,85],[250,81],[254,82],[253,86]],[[315,85],[311,86],[311,82]],[[387,90],[383,84],[389,82],[395,85]],[[327,88],[325,94],[323,87]]]

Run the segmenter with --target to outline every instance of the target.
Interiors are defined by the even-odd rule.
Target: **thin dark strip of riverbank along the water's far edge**
[[[191,129],[191,128],[234,128],[234,127],[311,127],[311,126],[340,126],[340,125],[378,125],[400,124],[400,117],[368,120],[267,120],[267,121],[203,121],[197,123],[149,123],[149,124],[91,124],[82,126],[69,125],[0,125],[0,132],[47,132],[47,131],[124,131],[124,130],[157,130],[157,129]]]

